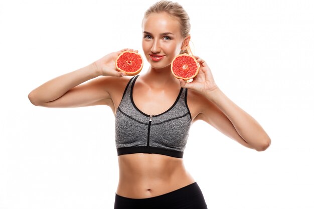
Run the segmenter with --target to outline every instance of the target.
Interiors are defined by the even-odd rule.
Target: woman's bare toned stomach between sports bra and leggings
[[[116,193],[128,198],[154,197],[195,182],[182,158],[135,153],[119,155],[118,163]]]

